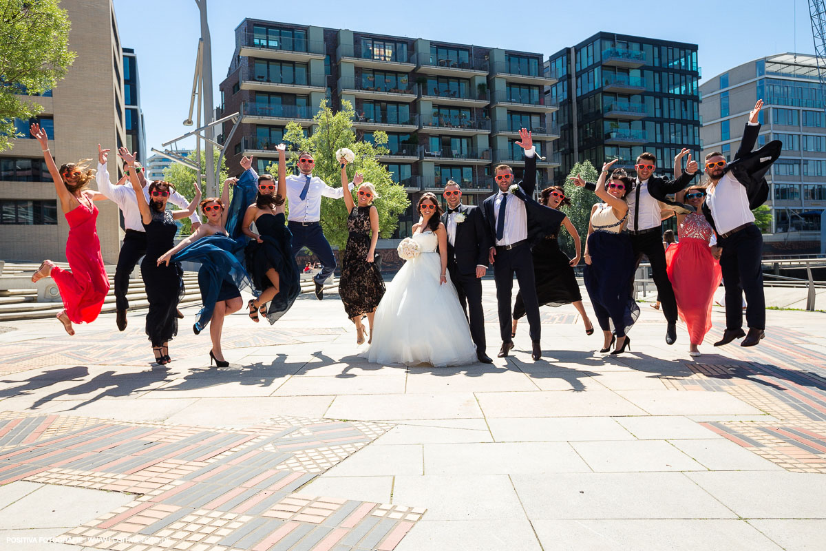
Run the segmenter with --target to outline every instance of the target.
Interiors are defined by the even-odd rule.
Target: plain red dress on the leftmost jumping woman
[[[70,269],[52,268],[51,278],[57,284],[69,320],[91,323],[101,313],[103,299],[109,292],[101,242],[97,239],[97,207],[92,203],[90,210],[81,202],[66,213],[66,221],[66,259]]]

